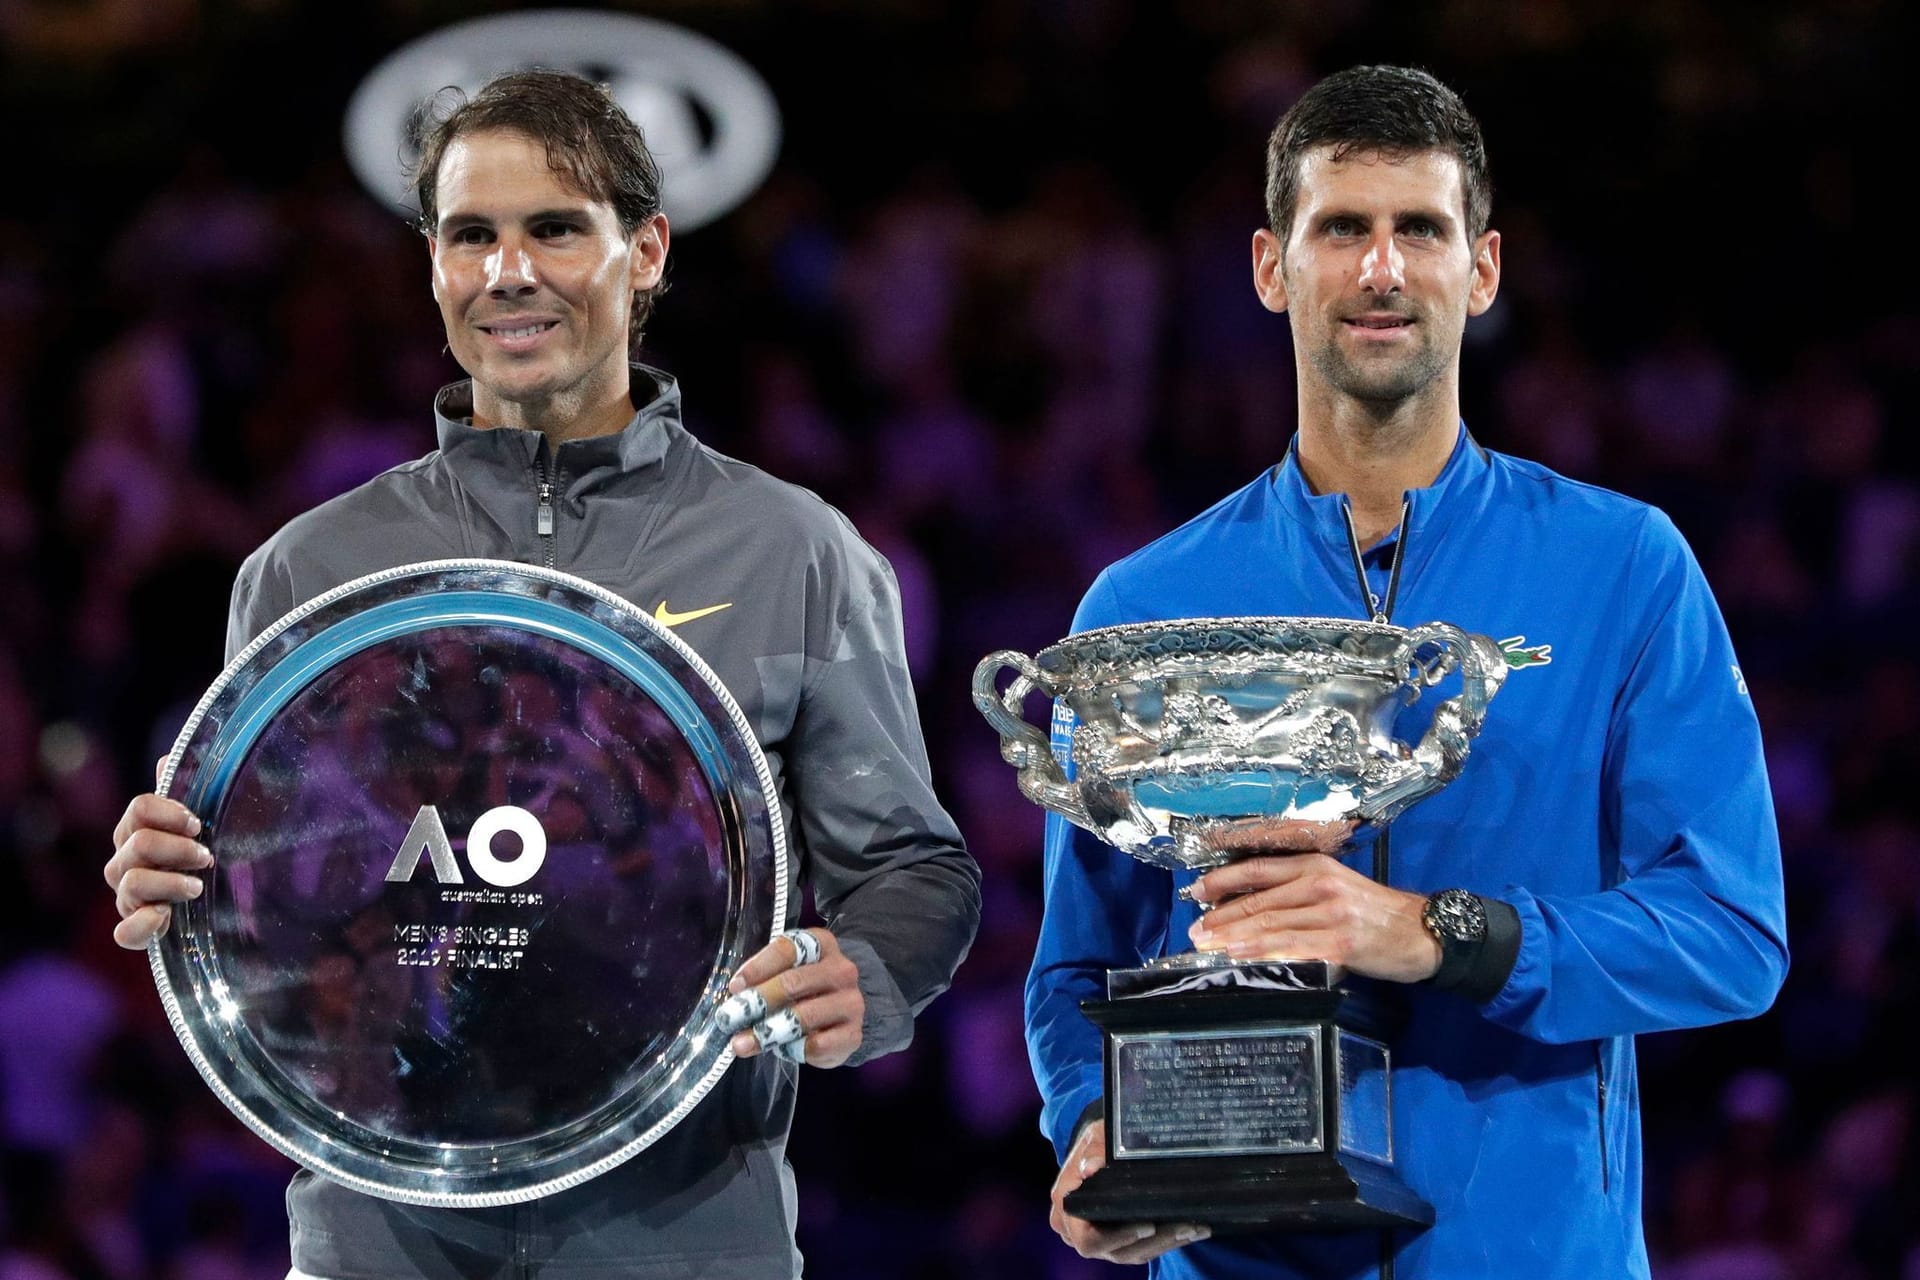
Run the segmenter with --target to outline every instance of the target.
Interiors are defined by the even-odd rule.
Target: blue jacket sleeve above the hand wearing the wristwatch
[[[1780,833],[1726,624],[1665,516],[1636,555],[1630,599],[1645,606],[1601,762],[1613,887],[1501,894],[1521,950],[1484,1013],[1546,1042],[1753,1017],[1788,969]]]

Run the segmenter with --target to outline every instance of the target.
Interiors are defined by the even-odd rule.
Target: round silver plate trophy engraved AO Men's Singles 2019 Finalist
[[[355,1190],[503,1205],[676,1125],[785,919],[772,775],[701,658],[568,574],[434,560],[303,604],[161,793],[215,865],[152,965],[253,1132]]]

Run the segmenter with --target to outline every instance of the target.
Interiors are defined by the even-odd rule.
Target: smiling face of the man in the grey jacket
[[[540,142],[507,130],[447,146],[436,203],[434,299],[474,380],[474,420],[559,438],[618,430],[632,415],[634,294],[660,282],[666,219],[628,234],[612,205],[553,173]]]

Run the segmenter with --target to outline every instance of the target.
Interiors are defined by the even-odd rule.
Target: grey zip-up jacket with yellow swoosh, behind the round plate
[[[772,766],[793,852],[787,902],[797,913],[797,887],[810,885],[860,971],[854,1061],[889,1054],[979,923],[979,869],[927,781],[893,570],[806,489],[693,439],[666,374],[636,365],[634,401],[626,430],[551,449],[538,432],[476,430],[470,384],[445,388],[436,453],[248,557],[228,656],[344,581],[449,557],[547,564],[649,614],[699,614],[676,635],[726,683]],[[526,1205],[424,1209],[301,1171],[286,1194],[294,1267],[326,1280],[797,1276],[785,1163],[797,1071],[774,1055],[737,1061],[653,1148]]]

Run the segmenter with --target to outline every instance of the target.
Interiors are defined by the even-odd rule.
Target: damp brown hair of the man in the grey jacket
[[[447,148],[465,134],[495,129],[545,146],[547,167],[589,200],[612,205],[628,236],[660,211],[660,165],[639,125],[605,86],[564,71],[509,71],[472,98],[459,88],[440,90],[409,123],[407,138],[419,148],[411,177],[422,234],[432,236],[440,223],[440,161]],[[664,292],[664,280],[636,290],[628,326],[636,347],[653,299]]]

